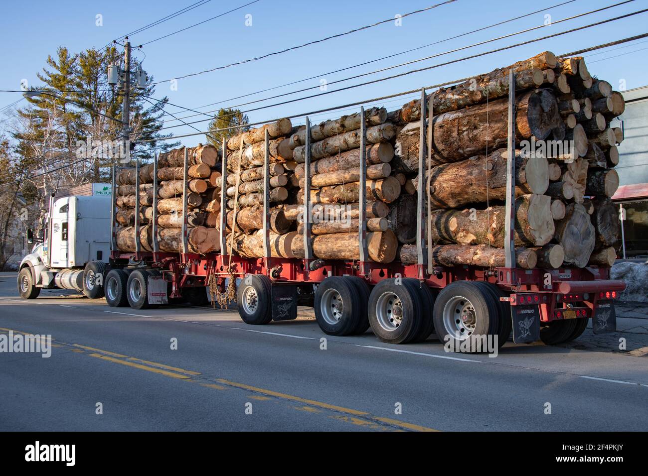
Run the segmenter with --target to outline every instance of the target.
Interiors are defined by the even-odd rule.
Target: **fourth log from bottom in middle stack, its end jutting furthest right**
[[[400,183],[394,177],[385,177],[378,180],[367,180],[367,200],[384,201],[391,203],[400,195]],[[330,185],[310,191],[312,203],[349,203],[356,202],[360,196],[360,183],[345,183],[343,185]],[[297,194],[299,203],[303,203],[304,192]]]

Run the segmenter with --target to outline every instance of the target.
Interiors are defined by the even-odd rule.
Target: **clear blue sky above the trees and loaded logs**
[[[36,0],[29,3],[4,2],[3,14],[0,18],[0,32],[4,45],[0,51],[0,60],[3,65],[0,89],[19,89],[20,81],[23,78],[26,78],[30,85],[38,85],[36,72],[40,71],[45,64],[47,55],[54,54],[56,47],[59,45],[65,45],[73,52],[82,51],[93,46],[101,48],[114,38],[172,14],[195,1],[111,0],[86,2],[60,0],[52,3],[51,1]],[[190,12],[131,36],[130,41],[133,45],[146,43],[146,41],[188,27],[209,17],[226,12],[231,8],[244,5],[249,1],[211,0]],[[152,74],[156,81],[166,80],[174,76],[211,69],[307,43],[308,41],[319,40],[325,36],[346,32],[353,28],[394,17],[396,14],[402,15],[406,12],[434,5],[435,1],[439,2],[441,0],[402,1],[398,3],[387,0],[329,0],[321,2],[260,0],[253,5],[208,21],[198,27],[155,41],[143,47],[143,51],[135,52],[135,55],[141,59],[146,54],[143,65],[148,74]],[[402,54],[395,58],[356,67],[341,73],[323,74],[356,63],[374,60],[388,54],[395,54],[406,49],[434,43],[504,19],[562,3],[561,0],[542,0],[540,3],[509,0],[457,0],[454,3],[439,6],[428,12],[405,17],[402,19],[402,26],[396,26],[392,21],[341,38],[297,49],[296,51],[214,71],[213,73],[185,78],[178,81],[177,91],[172,91],[169,83],[159,84],[157,85],[156,96],[167,95],[170,102],[174,104],[187,108],[198,108],[205,104],[227,100],[260,89],[275,87],[309,76],[318,76],[316,79],[307,82],[282,87],[281,89],[250,96],[242,100],[226,101],[219,106],[201,110],[209,111],[220,106],[235,106],[248,100],[294,91],[303,87],[319,86],[320,78],[332,82],[354,74],[373,71],[389,65],[415,60],[542,25],[545,22],[545,14],[550,14],[551,20],[557,21],[589,10],[613,5],[620,1],[576,0],[568,5],[551,8],[530,17]],[[399,67],[383,73],[372,74],[339,85],[330,85],[328,89],[331,91],[338,87],[358,84],[418,67],[463,58],[470,54],[588,25],[602,19],[642,10],[643,8],[648,8],[648,1],[632,1],[626,5],[610,8],[603,12],[540,28],[534,32],[527,32],[513,38],[470,48],[467,51],[446,54],[439,58]],[[97,14],[102,16],[102,26],[95,25]],[[247,14],[251,15],[252,20],[252,25],[249,27],[245,25]],[[378,84],[332,93],[284,106],[253,111],[249,113],[249,119],[251,122],[271,120],[295,113],[304,113],[338,104],[388,95],[423,85],[438,84],[473,74],[486,73],[495,67],[529,58],[541,51],[549,50],[556,54],[564,54],[645,32],[648,32],[648,12],[608,23],[607,25],[586,28],[559,38],[552,38],[481,58],[410,74]],[[585,54],[590,72],[610,82],[615,89],[619,89],[619,81],[621,80],[625,80],[627,89],[647,84],[648,38],[626,43],[622,46],[623,48],[616,46],[607,50]],[[241,106],[240,108],[244,110],[255,108],[280,100],[311,95],[318,91],[319,89],[314,89],[279,100],[270,100],[251,106]],[[413,96],[391,99],[378,104],[392,110],[410,100],[411,97]],[[0,108],[10,104],[17,98],[19,98],[17,93],[0,93]],[[357,109],[353,108],[353,111]],[[191,114],[170,106],[168,111],[182,117]],[[343,112],[313,115],[311,120],[319,122],[330,117],[339,117],[341,113],[348,112],[349,109]],[[168,119],[172,118],[169,117]],[[187,120],[198,119],[205,118],[193,117]],[[301,120],[294,120],[294,122],[301,122]],[[179,122],[172,121],[168,122],[167,125],[174,124],[179,124]],[[205,130],[206,125],[207,122],[202,122],[196,124],[196,127]],[[194,132],[187,126],[174,128],[171,131],[176,134]],[[183,139],[183,143],[186,145],[193,145],[199,141],[204,141],[204,136]]]

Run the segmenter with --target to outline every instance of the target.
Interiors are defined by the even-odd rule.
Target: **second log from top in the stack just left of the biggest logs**
[[[367,143],[377,144],[378,142],[388,142],[396,134],[396,128],[393,124],[386,122],[378,126],[371,126],[366,130]],[[360,147],[360,131],[349,131],[333,137],[328,137],[323,141],[310,144],[310,154],[313,159],[321,159],[327,155],[335,155],[346,150],[357,149]],[[305,146],[295,147],[292,151],[292,157],[295,162],[303,163],[305,161]]]

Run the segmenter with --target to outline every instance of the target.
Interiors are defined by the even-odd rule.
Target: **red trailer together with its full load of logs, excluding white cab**
[[[501,346],[513,334],[555,345],[590,319],[594,333],[614,332],[625,289],[610,278],[616,94],[582,58],[544,52],[422,89],[389,115],[280,119],[222,150],[199,144],[113,166],[110,257],[89,261],[81,283],[100,281],[90,297],[135,309],[206,304],[209,288],[255,325],[307,305],[325,334],[371,328],[394,344],[435,334],[452,348],[483,336]],[[601,111],[594,122],[591,109]],[[568,153],[516,150],[516,140],[551,137],[568,138]],[[338,205],[336,220],[315,219]]]

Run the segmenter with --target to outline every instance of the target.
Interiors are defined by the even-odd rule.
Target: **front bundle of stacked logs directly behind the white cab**
[[[187,150],[187,245],[191,253],[220,251],[217,221],[211,214],[220,210],[220,159],[213,146]],[[157,244],[159,251],[182,251],[184,148],[162,153],[157,161],[157,189],[154,190],[153,164],[139,168],[139,237],[135,237],[135,168],[117,174],[117,247],[135,251],[139,239],[141,251],[153,251],[153,198],[157,195]]]

